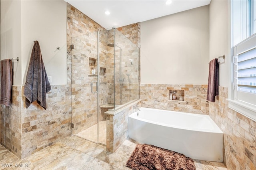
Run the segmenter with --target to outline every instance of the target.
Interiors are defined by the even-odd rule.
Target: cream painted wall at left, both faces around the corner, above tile
[[[9,0],[1,3],[1,49],[4,52],[1,59],[20,57],[20,61],[14,61],[13,84],[25,84],[34,40],[40,44],[47,75],[52,76],[50,84],[66,84],[66,2]],[[61,49],[57,50],[57,46]]]

